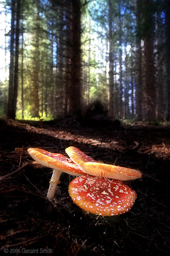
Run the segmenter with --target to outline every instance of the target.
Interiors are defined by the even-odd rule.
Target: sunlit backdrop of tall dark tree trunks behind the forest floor
[[[0,14],[1,116],[170,121],[169,0],[7,0]]]

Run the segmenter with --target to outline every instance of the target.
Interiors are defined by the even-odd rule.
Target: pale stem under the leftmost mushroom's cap
[[[50,180],[50,186],[48,189],[47,198],[50,198],[52,200],[54,199],[55,190],[57,188],[57,184],[58,184],[61,174],[62,174],[62,171],[56,170],[56,169],[53,170],[53,175]]]

